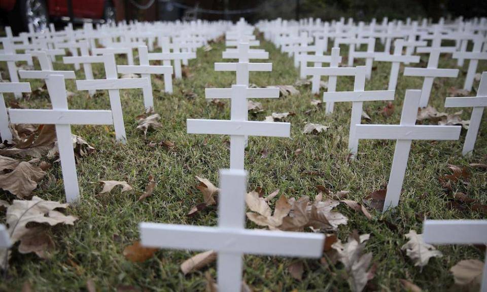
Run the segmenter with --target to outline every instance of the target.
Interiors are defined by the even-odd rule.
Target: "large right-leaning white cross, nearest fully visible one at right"
[[[357,125],[357,139],[395,139],[396,150],[387,186],[384,211],[396,207],[401,195],[412,140],[458,140],[461,126],[417,126],[420,90],[406,90],[400,125]]]

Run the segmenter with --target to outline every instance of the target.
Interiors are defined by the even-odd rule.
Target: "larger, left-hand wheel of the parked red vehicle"
[[[17,0],[8,18],[14,33],[28,31],[29,23],[34,25],[35,31],[43,31],[47,29],[49,24],[46,1]]]

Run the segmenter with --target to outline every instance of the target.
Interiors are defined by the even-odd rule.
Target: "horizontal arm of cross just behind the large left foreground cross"
[[[134,89],[149,86],[148,78],[77,80],[78,90]]]

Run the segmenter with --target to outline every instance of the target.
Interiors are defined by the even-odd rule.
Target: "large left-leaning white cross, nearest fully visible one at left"
[[[50,75],[48,79],[53,109],[10,109],[10,120],[12,124],[56,125],[64,192],[66,201],[71,203],[80,196],[71,125],[111,125],[112,112],[68,109],[64,76]]]

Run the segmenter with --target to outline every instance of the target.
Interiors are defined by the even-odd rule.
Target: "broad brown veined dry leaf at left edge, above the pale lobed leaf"
[[[9,191],[19,199],[30,195],[44,175],[44,170],[29,162],[0,156],[0,189]]]

